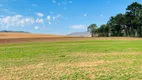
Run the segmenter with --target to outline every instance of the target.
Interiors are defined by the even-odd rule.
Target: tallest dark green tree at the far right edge
[[[129,26],[130,36],[141,36],[140,16],[142,12],[142,5],[133,2],[126,8],[127,25]]]

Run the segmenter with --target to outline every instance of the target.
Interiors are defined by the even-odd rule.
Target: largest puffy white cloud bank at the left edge
[[[0,18],[0,26],[3,28],[23,27],[34,23],[35,20],[32,17],[24,17],[22,15],[6,16]]]

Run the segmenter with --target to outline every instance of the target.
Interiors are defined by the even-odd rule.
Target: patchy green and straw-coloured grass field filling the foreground
[[[141,80],[142,40],[0,45],[0,80]]]

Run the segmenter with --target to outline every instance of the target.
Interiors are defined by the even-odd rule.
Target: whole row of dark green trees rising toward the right
[[[95,36],[142,37],[142,4],[133,2],[126,8],[125,14],[111,16],[106,24],[97,27],[91,24],[87,30]]]

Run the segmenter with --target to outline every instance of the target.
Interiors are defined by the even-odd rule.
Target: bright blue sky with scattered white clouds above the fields
[[[142,0],[0,0],[0,30],[65,35],[100,26]]]

